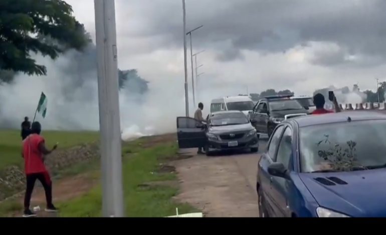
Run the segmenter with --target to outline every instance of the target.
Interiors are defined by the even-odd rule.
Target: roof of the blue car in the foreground
[[[348,121],[348,117],[350,117],[351,121],[386,120],[386,110],[383,113],[377,111],[343,111],[320,115],[299,116],[292,120],[296,121],[299,127],[304,127],[310,125],[345,122]]]

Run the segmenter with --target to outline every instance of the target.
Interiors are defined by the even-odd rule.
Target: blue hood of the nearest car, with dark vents
[[[386,169],[300,173],[317,203],[353,217],[385,217]]]

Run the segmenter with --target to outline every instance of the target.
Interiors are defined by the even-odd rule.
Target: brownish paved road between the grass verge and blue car
[[[184,154],[193,157],[176,161],[181,192],[176,198],[201,209],[208,217],[257,217],[257,163],[266,147],[260,143],[259,153],[236,152],[207,157],[197,149]]]

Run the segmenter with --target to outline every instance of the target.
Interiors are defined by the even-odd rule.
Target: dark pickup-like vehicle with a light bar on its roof
[[[271,136],[276,125],[287,118],[309,114],[308,110],[291,97],[291,95],[275,95],[259,100],[248,114],[258,132],[258,137],[260,134]]]

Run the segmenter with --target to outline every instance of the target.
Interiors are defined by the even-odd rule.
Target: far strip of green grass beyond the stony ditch
[[[44,131],[42,135],[46,139],[48,148],[59,142],[59,149],[93,142],[99,138],[99,133],[92,131]],[[22,139],[20,130],[0,130],[0,171],[9,165],[22,164],[21,150]]]

